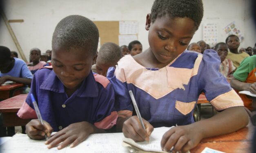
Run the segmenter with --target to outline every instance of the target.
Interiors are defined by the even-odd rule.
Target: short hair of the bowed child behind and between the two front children
[[[104,63],[117,63],[122,58],[121,48],[112,42],[107,42],[100,47],[97,60]]]

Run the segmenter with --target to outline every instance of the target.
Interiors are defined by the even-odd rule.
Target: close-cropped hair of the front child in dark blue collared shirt
[[[52,49],[86,48],[96,55],[99,41],[97,26],[81,15],[70,15],[62,19],[56,26],[52,37]]]

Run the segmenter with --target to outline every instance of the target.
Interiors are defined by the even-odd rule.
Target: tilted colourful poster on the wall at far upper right
[[[227,34],[227,36],[229,36],[229,35],[237,35],[237,37],[240,39],[240,42],[243,42],[243,40],[245,39],[245,37],[243,36],[243,34],[239,30],[239,28],[236,26],[235,22],[232,22],[232,23],[228,24],[224,28],[224,31]]]

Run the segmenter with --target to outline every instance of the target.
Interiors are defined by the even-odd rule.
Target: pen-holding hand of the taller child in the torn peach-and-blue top
[[[122,132],[125,137],[131,138],[134,141],[149,141],[149,136],[154,130],[154,127],[145,119],[143,119],[146,131],[143,129],[138,116],[131,116],[124,122]]]

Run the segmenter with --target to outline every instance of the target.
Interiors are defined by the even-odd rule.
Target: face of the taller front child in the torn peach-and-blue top
[[[156,59],[160,63],[170,63],[186,50],[196,26],[187,17],[171,19],[164,16],[151,23],[148,15],[146,30],[149,30],[149,46]]]

